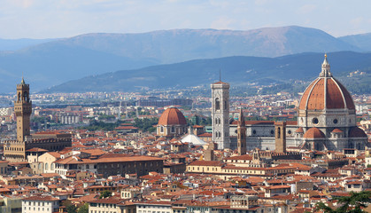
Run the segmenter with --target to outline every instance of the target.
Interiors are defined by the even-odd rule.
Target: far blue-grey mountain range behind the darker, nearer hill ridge
[[[234,59],[233,56],[249,56],[250,58],[236,57],[235,59],[245,59],[246,61],[238,63],[248,65],[247,70],[259,70],[262,67],[275,67],[277,64],[273,61],[278,61],[279,57],[290,54],[294,56],[287,56],[287,59],[295,58],[296,54],[302,52],[321,52],[320,55],[323,55],[324,52],[331,51],[371,51],[371,40],[367,39],[369,36],[336,38],[319,29],[290,26],[246,31],[174,29],[141,34],[87,34],[71,38],[32,41],[35,43],[31,42],[28,45],[19,44],[20,50],[14,44],[16,41],[12,40],[10,43],[13,43],[13,46],[8,48],[10,51],[0,48],[0,74],[3,75],[0,78],[0,91],[14,91],[14,85],[20,82],[22,73],[27,83],[32,84],[33,91],[44,91],[46,88],[54,88],[50,91],[56,88],[63,91],[57,85],[63,83],[66,85],[68,81],[81,78],[94,78],[95,75],[100,77],[105,73],[105,75],[112,75],[112,72],[117,70],[127,70],[126,75],[131,76],[128,79],[125,79],[127,76],[122,76],[124,78],[122,83],[130,82],[131,85],[135,85],[137,82],[137,86],[141,86],[143,79],[150,81],[150,75],[153,80],[154,75],[149,71],[157,70],[157,67],[153,66],[172,63],[174,65],[169,66],[174,68],[174,75],[179,76],[184,75],[182,72],[189,71],[182,66],[189,63],[206,63],[209,61],[207,59],[215,59],[216,63],[209,68],[210,75],[218,72],[220,68],[227,72],[230,64],[227,66],[223,63],[228,59]],[[19,40],[19,43],[21,41]],[[0,44],[2,43],[6,44],[6,40],[0,40]],[[181,63],[188,60],[190,61]],[[290,64],[294,63],[296,62],[290,62]],[[262,64],[262,67],[252,67],[258,64]],[[276,71],[280,72],[280,70]],[[166,76],[163,78],[167,79]],[[161,83],[164,86],[174,85],[164,81]],[[187,79],[183,83],[196,85],[197,77]],[[102,87],[102,90],[104,88]],[[67,88],[66,91],[71,89]]]

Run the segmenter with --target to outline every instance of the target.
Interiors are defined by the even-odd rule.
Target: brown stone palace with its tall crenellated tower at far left
[[[72,146],[72,136],[68,133],[30,134],[30,116],[32,101],[29,97],[29,84],[22,78],[17,85],[17,98],[14,101],[17,117],[17,138],[4,141],[4,157],[9,162],[26,162],[27,156],[43,154],[48,151],[60,151]]]

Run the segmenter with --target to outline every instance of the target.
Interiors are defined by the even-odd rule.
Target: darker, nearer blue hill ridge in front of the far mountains
[[[137,91],[141,88],[193,87],[217,81],[220,69],[223,81],[233,86],[311,81],[320,74],[323,57],[322,53],[300,53],[277,58],[235,56],[196,59],[88,76],[62,83],[43,92]],[[371,53],[330,52],[328,61],[335,77],[344,77],[355,70],[371,74]]]

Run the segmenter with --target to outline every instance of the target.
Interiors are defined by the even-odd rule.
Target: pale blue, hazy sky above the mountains
[[[370,8],[366,0],[1,0],[0,38],[291,25],[347,36],[371,32]]]

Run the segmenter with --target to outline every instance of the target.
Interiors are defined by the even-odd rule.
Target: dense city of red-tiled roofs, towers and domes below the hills
[[[1,97],[14,101],[0,109],[1,210],[344,208],[339,198],[371,190],[371,97],[350,96],[326,56],[321,67],[299,94],[245,97],[229,97],[222,81],[189,98],[187,90],[30,95],[22,79],[17,95]]]

